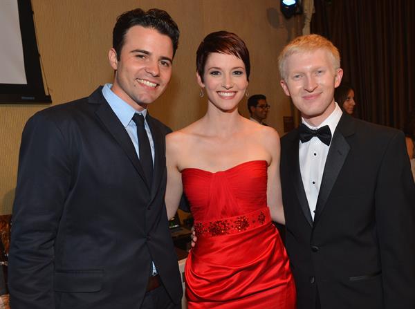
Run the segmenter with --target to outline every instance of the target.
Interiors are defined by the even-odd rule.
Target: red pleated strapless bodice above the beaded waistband
[[[183,189],[194,221],[214,221],[239,216],[267,206],[266,160],[253,160],[210,172],[182,171]]]

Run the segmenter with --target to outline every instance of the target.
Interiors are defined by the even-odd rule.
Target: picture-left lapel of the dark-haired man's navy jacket
[[[100,88],[99,92],[101,92]],[[100,95],[100,93],[97,93],[97,91],[95,91],[95,93],[91,95],[89,103],[100,104],[98,109],[95,111],[95,114],[100,119],[104,127],[107,128],[109,133],[111,133],[113,138],[118,142],[120,147],[127,154],[127,157],[133,164],[133,167],[136,169],[138,174],[140,174],[142,180],[144,180],[144,182],[147,184],[145,180],[144,171],[142,170],[142,167],[140,165],[140,160],[138,160],[136,149],[134,149],[133,143],[131,142],[131,138],[129,137],[124,126],[122,126],[122,123],[118,120],[116,114],[111,109],[111,106],[109,106],[108,102],[104,99],[102,94]],[[148,187],[148,185],[147,189],[150,190],[150,187]]]

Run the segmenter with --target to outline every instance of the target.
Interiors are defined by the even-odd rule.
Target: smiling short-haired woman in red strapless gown
[[[213,32],[196,54],[208,111],[167,135],[169,217],[190,202],[198,241],[185,266],[188,308],[294,309],[295,285],[281,238],[279,135],[243,118],[249,52],[235,34]]]

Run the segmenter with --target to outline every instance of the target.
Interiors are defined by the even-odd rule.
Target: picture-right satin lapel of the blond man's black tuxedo
[[[337,180],[344,161],[347,158],[347,154],[349,153],[350,145],[347,142],[346,137],[354,133],[353,123],[353,118],[343,114],[333,134],[326,164],[324,165],[322,185],[320,186],[317,205],[315,207],[315,223],[319,220],[324,207],[326,206],[326,201],[329,198],[331,189],[333,189],[335,180]]]

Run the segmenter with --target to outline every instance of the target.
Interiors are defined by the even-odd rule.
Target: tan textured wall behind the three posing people
[[[53,105],[89,95],[111,82],[108,64],[112,29],[122,12],[140,7],[167,10],[181,30],[173,76],[151,115],[180,129],[205,113],[196,84],[195,54],[210,32],[228,30],[247,44],[251,57],[250,94],[264,93],[271,105],[266,122],[283,134],[291,115],[279,86],[277,55],[299,35],[302,18],[286,20],[277,0],[32,0],[37,44]],[[50,105],[0,104],[0,214],[12,212],[21,132],[35,112]],[[246,99],[239,107],[248,117]]]

